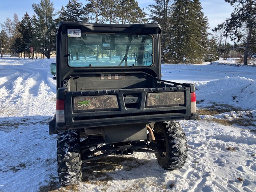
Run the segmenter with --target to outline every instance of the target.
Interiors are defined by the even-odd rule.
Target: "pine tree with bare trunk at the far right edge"
[[[255,0],[225,0],[233,6],[234,12],[231,17],[219,24],[217,29],[225,29],[226,35],[231,40],[238,42],[245,38],[244,41],[244,65],[248,64],[248,53],[252,42],[252,32],[256,28],[256,2]],[[243,30],[241,30],[243,29]]]

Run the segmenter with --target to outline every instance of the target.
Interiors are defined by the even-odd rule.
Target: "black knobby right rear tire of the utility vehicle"
[[[188,144],[183,128],[177,121],[157,122],[154,133],[160,153],[155,153],[158,164],[168,170],[181,168],[188,157]]]

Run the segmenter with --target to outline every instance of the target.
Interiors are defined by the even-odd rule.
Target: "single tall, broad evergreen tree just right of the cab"
[[[200,63],[208,43],[208,19],[199,0],[175,0],[169,31],[168,61]]]

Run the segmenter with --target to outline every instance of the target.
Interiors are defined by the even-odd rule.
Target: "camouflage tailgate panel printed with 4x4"
[[[148,93],[145,108],[184,105],[184,92]]]

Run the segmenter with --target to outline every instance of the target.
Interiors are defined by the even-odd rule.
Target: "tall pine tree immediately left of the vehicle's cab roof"
[[[32,8],[37,16],[35,23],[38,29],[38,40],[40,42],[40,52],[50,59],[56,50],[56,16],[51,0],[40,0],[40,4],[32,4]]]

